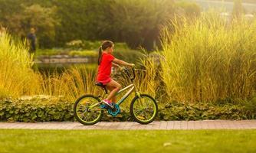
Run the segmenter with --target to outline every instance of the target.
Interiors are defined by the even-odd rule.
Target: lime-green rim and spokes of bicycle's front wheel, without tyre
[[[148,96],[141,96],[133,103],[133,115],[140,122],[149,122],[156,116],[156,103]]]

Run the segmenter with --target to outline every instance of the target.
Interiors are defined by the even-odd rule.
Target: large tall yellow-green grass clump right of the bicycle
[[[205,14],[162,31],[162,80],[182,102],[248,99],[256,91],[256,21]]]

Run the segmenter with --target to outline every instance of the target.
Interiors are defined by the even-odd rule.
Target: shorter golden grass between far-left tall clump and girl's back
[[[38,85],[34,86],[39,95],[63,96],[74,102],[86,93],[98,95],[100,89],[94,85],[95,72],[84,67],[72,67],[64,73],[38,75]],[[102,91],[101,91],[102,92]]]

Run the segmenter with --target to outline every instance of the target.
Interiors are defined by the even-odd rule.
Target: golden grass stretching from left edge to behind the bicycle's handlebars
[[[102,95],[103,90],[94,85],[97,70],[88,70],[84,67],[72,67],[64,73],[39,73],[31,69],[32,58],[28,54],[25,43],[13,41],[14,39],[6,34],[0,36],[0,98],[20,96],[63,96],[64,99],[74,102],[84,94]],[[153,60],[143,60],[146,73],[136,72],[136,86],[143,93],[150,93],[156,96],[156,67]],[[147,67],[150,66],[150,69]],[[118,80],[123,86],[129,80]],[[133,96],[130,96],[130,100]]]

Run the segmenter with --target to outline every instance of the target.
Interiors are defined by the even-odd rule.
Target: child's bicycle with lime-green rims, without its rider
[[[113,107],[104,104],[100,95],[94,96],[87,94],[80,96],[74,103],[74,116],[77,121],[83,125],[94,125],[97,122],[100,122],[104,110],[107,110],[113,117],[117,116],[120,113],[120,105],[134,92],[135,97],[130,103],[130,116],[140,124],[149,124],[150,122],[153,122],[158,112],[156,100],[152,96],[140,94],[139,91],[136,90],[136,86],[133,84],[133,80],[135,79],[135,69],[132,68],[132,70],[133,76],[130,75],[129,69],[122,67],[122,71],[130,78],[131,84],[117,92],[116,95],[123,93],[125,90],[130,90],[128,90],[126,94],[113,105]],[[95,83],[95,85],[100,86],[105,90],[107,97],[108,93],[106,86],[104,86],[103,83]]]

